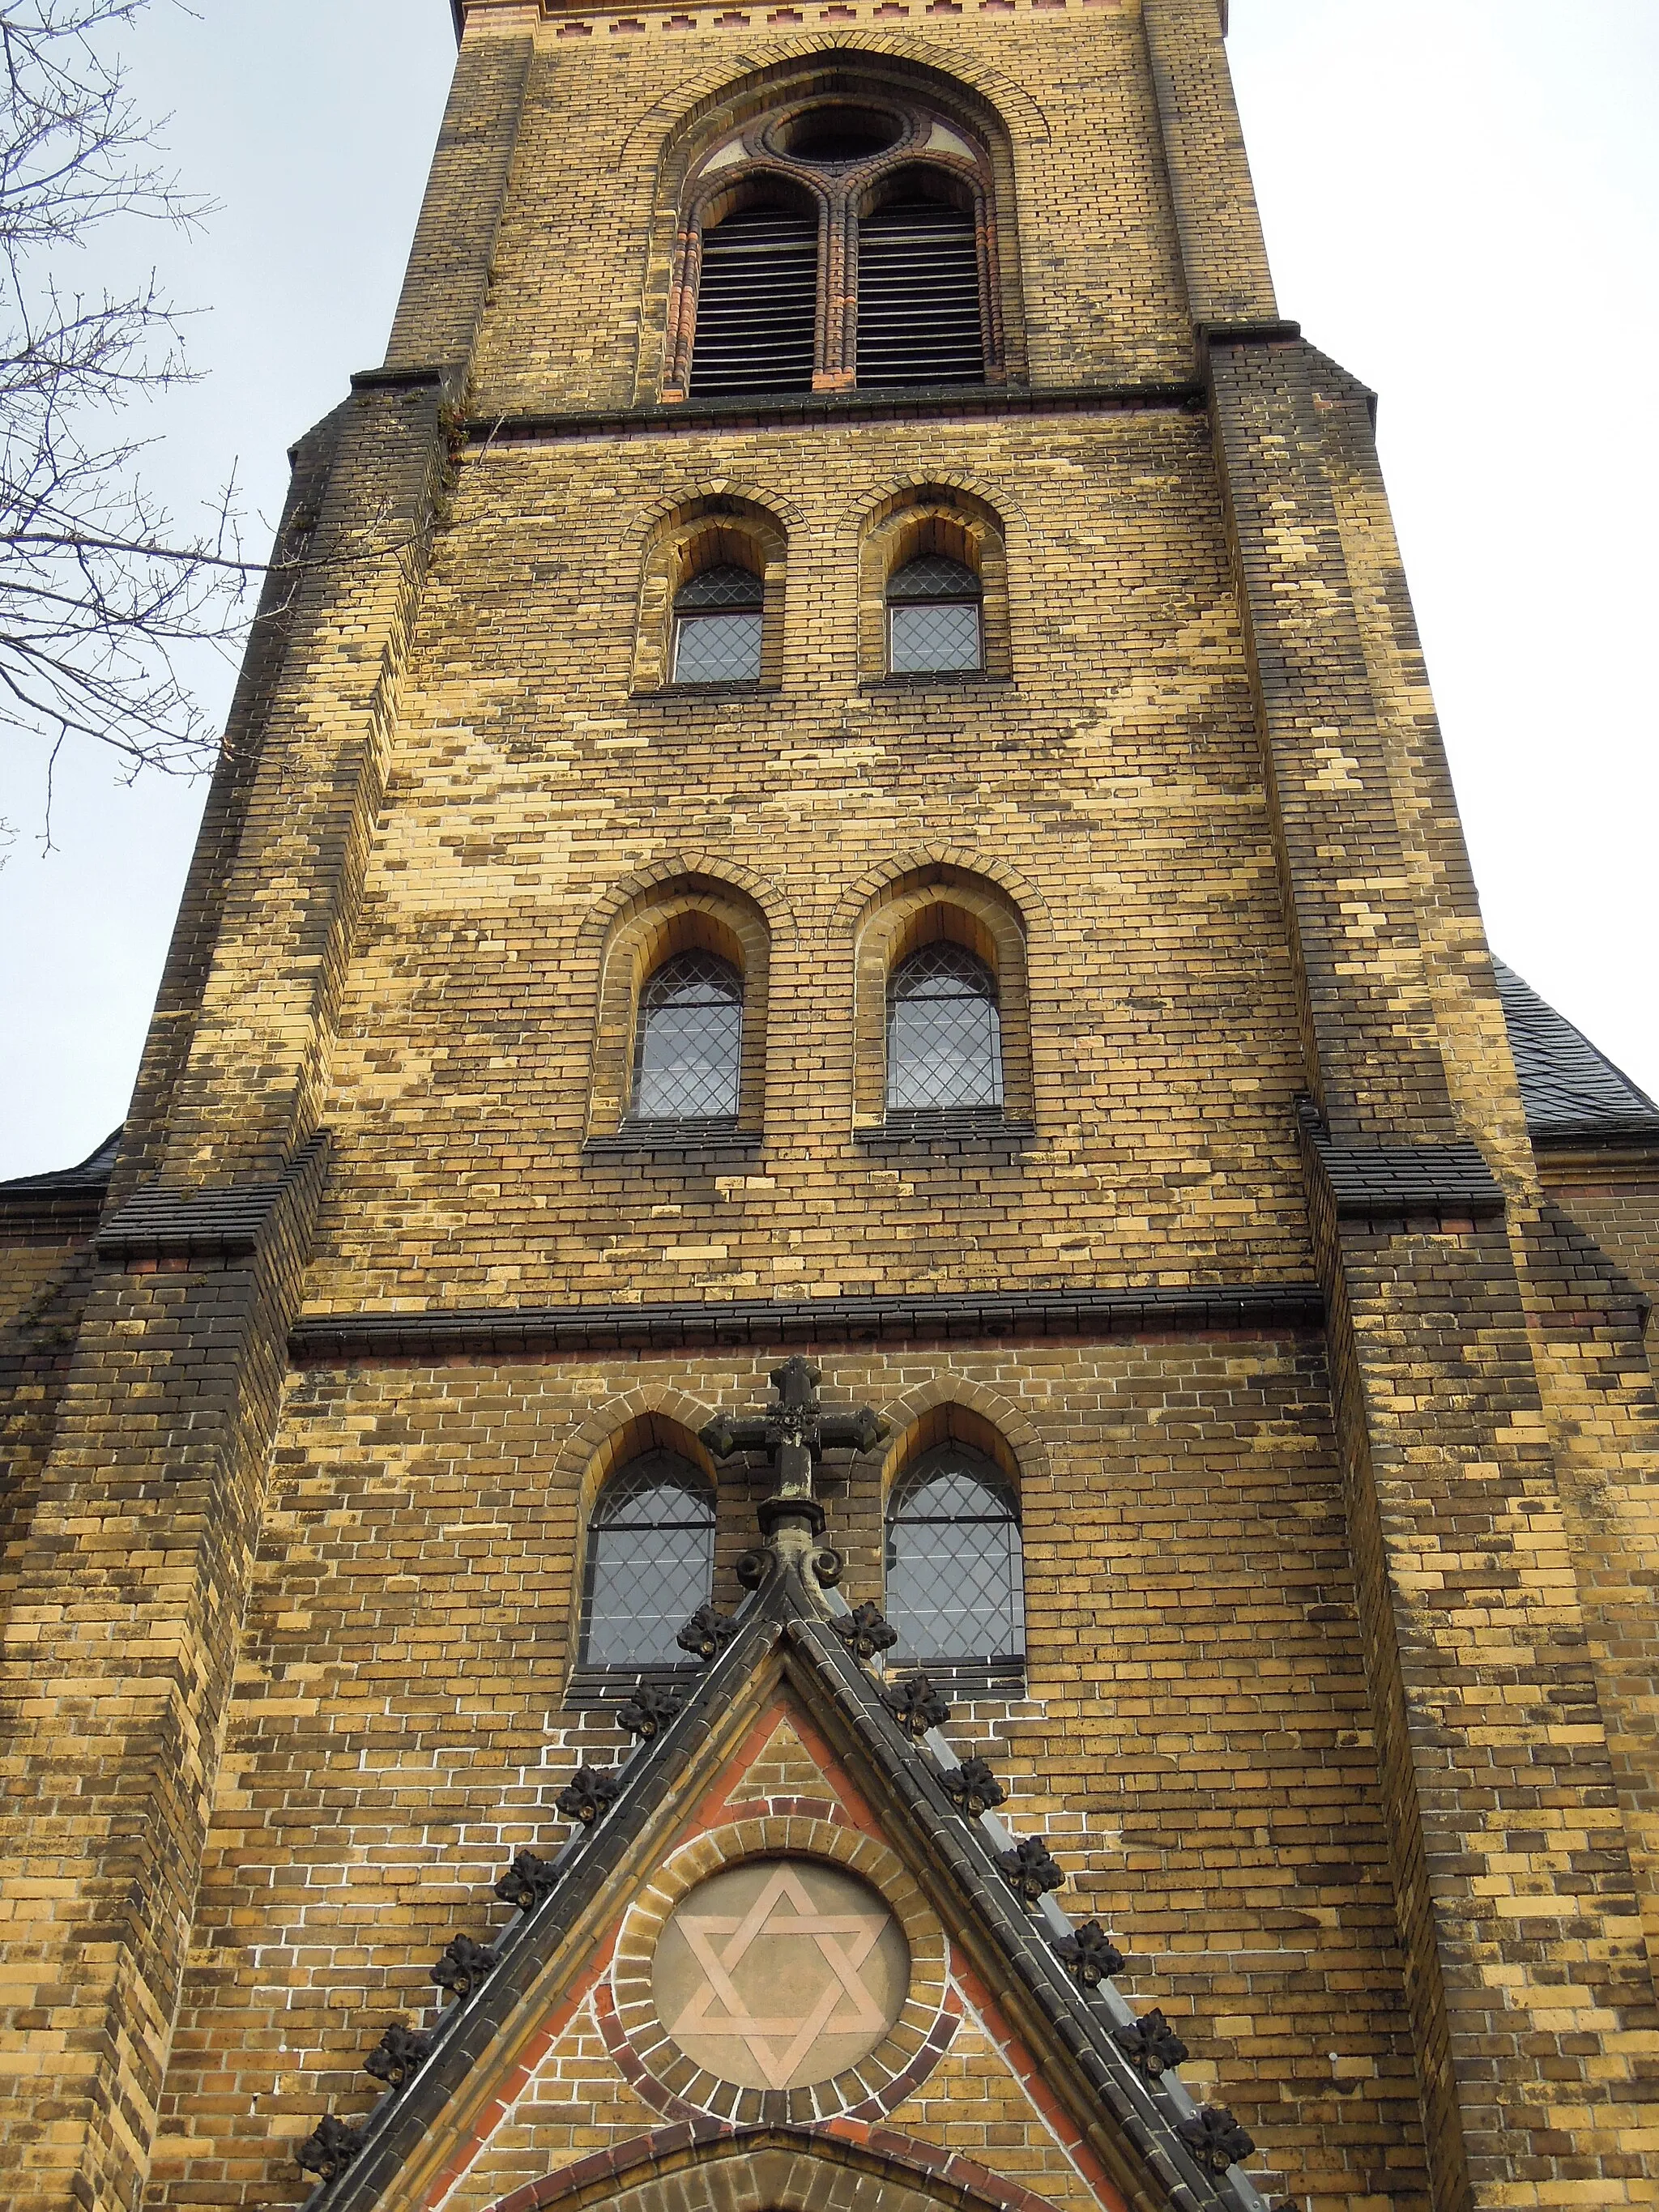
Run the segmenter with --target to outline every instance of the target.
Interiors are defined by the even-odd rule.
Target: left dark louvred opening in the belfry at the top
[[[690,394],[812,392],[818,226],[752,208],[703,232]]]

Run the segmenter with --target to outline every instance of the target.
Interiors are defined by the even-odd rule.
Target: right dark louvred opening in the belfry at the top
[[[916,201],[858,226],[858,383],[984,383],[971,215]]]

